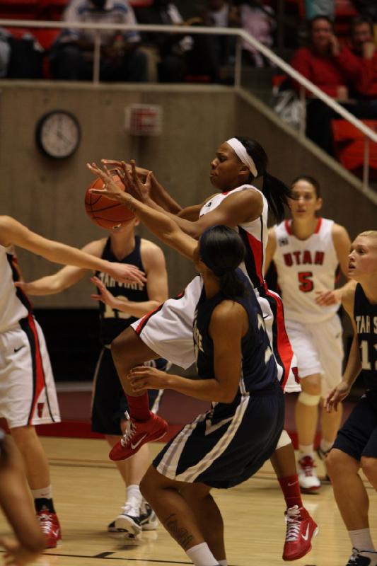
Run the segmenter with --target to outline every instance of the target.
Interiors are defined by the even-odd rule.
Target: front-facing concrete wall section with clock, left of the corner
[[[233,134],[236,100],[228,88],[91,86],[57,83],[0,83],[1,88],[1,214],[10,214],[48,238],[72,246],[103,237],[86,216],[83,198],[93,175],[87,161],[135,158],[152,169],[182,205],[196,204],[211,194],[209,161],[214,149]],[[130,103],[163,107],[160,137],[135,139],[124,131],[124,108]],[[35,125],[53,109],[73,112],[81,123],[76,154],[56,161],[40,154]],[[141,233],[151,237],[141,229]],[[153,239],[153,237],[151,237]],[[192,278],[190,262],[166,250],[170,293]],[[19,252],[26,280],[54,272],[54,265]],[[91,284],[82,282],[62,294],[35,297],[36,306],[93,306]]]

